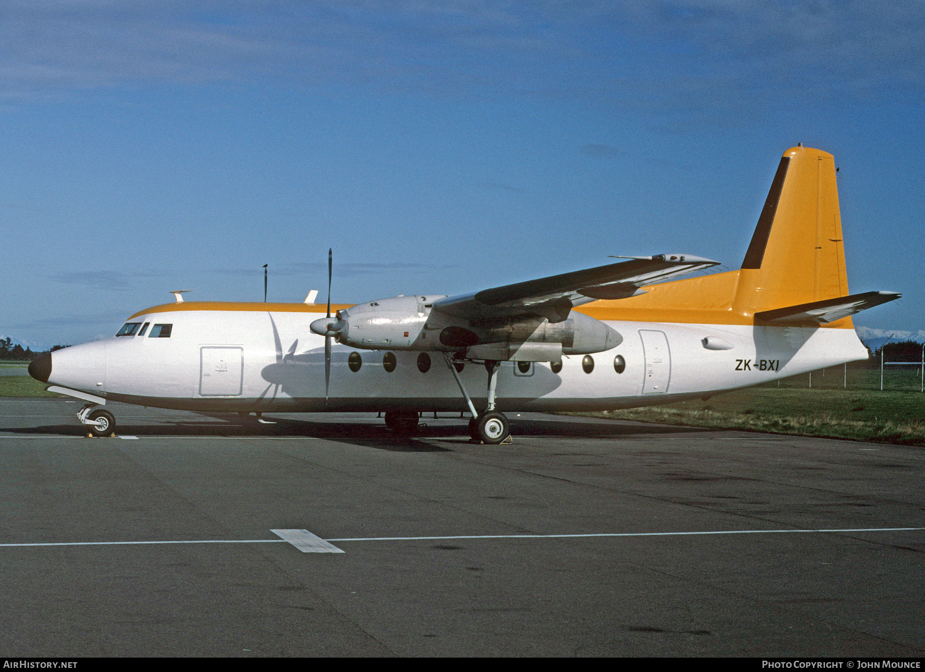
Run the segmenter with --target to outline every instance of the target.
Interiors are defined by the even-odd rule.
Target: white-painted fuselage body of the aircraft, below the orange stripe
[[[442,353],[335,345],[325,397],[324,337],[309,324],[317,313],[178,311],[135,322],[172,324],[170,337],[118,336],[57,350],[48,382],[115,401],[169,409],[359,411],[466,409]],[[846,361],[867,359],[853,329],[608,321],[623,336],[616,348],[548,363],[501,363],[498,409],[622,409],[702,397],[759,385]],[[709,341],[707,339],[709,338]],[[715,349],[725,348],[725,349]],[[352,371],[348,355],[359,352]],[[622,373],[614,367],[617,356]],[[355,358],[354,358],[355,360]],[[355,366],[355,362],[354,362]],[[462,382],[479,406],[487,371],[467,362]]]

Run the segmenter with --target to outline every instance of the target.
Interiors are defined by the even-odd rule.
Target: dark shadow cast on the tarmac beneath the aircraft
[[[337,420],[293,420],[276,418],[272,424],[257,423],[252,419],[242,420],[235,413],[197,413],[202,420],[159,420],[152,418],[144,424],[119,424],[118,434],[145,437],[202,436],[202,437],[313,437],[348,443],[355,446],[375,447],[397,452],[446,452],[450,448],[436,446],[431,441],[450,443],[468,441],[466,420],[453,424],[430,424],[427,418],[410,434],[396,434],[385,424],[370,422],[349,422]],[[441,418],[441,420],[447,420]],[[710,432],[709,429],[678,427],[672,425],[641,424],[618,421],[587,422],[585,419],[549,416],[549,420],[511,419],[511,434],[518,436],[549,436],[561,438],[607,438],[638,436],[640,434],[686,434]],[[712,430],[719,431],[719,430]],[[0,434],[66,435],[80,436],[86,430],[77,424],[40,425],[33,427],[0,428]]]

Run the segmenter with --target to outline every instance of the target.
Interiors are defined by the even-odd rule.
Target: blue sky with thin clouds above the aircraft
[[[832,152],[856,318],[925,330],[921,2],[7,0],[0,334],[189,299],[453,294],[684,251],[737,268]],[[324,295],[324,291],[322,291]]]

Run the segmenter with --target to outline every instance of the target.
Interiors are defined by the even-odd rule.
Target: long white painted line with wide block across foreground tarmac
[[[307,530],[271,530],[281,539],[190,539],[164,542],[42,542],[33,544],[0,544],[0,547],[22,546],[130,546],[143,544],[292,544],[302,553],[344,553],[330,542],[408,542],[450,539],[573,539],[582,537],[666,537],[703,534],[771,534],[775,532],[893,532],[922,531],[925,527],[839,528],[831,530],[716,530],[693,532],[598,532],[591,534],[459,534],[442,537],[349,537],[322,539]],[[305,549],[309,550],[305,550]],[[313,550],[326,549],[326,550]],[[334,550],[330,550],[334,549]]]

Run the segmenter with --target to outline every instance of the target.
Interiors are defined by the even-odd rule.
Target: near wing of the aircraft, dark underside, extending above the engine
[[[625,299],[644,294],[640,287],[718,264],[691,254],[636,257],[627,262],[447,297],[434,303],[434,310],[469,319],[533,313],[555,323],[567,319],[573,306],[596,299]]]

